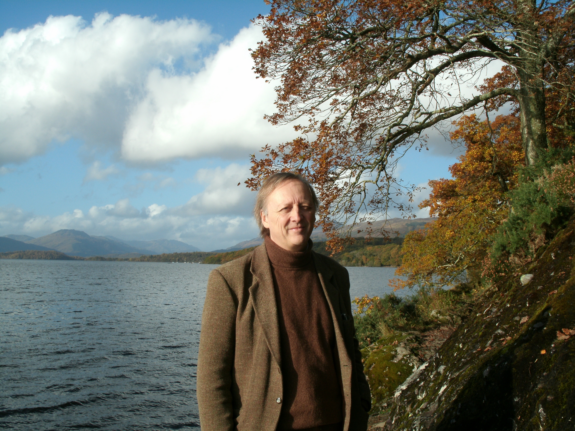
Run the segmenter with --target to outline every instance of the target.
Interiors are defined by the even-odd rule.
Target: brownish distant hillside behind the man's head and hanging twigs
[[[405,234],[411,232],[412,230],[422,229],[426,224],[434,222],[435,220],[437,220],[435,217],[415,218],[411,220],[396,217],[396,218],[390,218],[387,221],[383,220],[374,221],[373,224],[371,224],[371,229],[377,231],[378,229],[381,229],[382,226],[384,226],[384,223],[386,223],[385,225],[386,230],[398,232],[400,237],[404,237]],[[367,229],[367,227],[368,227],[367,223],[359,223],[358,225],[354,226],[354,230],[351,236],[354,238],[366,237],[367,235],[365,232],[357,233],[357,231]],[[374,234],[373,237],[377,238],[378,235]],[[314,243],[321,243],[323,241],[327,241],[327,237],[325,236],[325,233],[322,232],[321,228],[314,229],[310,238]],[[263,238],[258,237],[247,241],[241,241],[241,243],[237,243],[232,247],[221,250],[214,250],[213,252],[215,253],[232,252],[237,250],[243,250],[244,248],[255,247],[256,245],[260,244],[263,244]]]

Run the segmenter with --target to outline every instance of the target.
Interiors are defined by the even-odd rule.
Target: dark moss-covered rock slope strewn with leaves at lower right
[[[574,249],[572,220],[528,268],[527,286],[519,274],[485,291],[439,351],[397,387],[379,428],[574,429],[575,335],[567,338],[575,328]]]

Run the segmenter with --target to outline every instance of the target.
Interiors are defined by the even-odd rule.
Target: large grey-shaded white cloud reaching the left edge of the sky
[[[0,37],[0,165],[37,155],[69,137],[120,145],[128,106],[151,70],[192,66],[209,29],[193,20],[154,21],[108,13],[91,25],[80,17]]]

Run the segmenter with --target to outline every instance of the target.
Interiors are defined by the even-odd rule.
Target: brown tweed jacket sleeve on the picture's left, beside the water
[[[198,352],[197,398],[202,431],[232,431],[232,368],[237,297],[224,276],[210,273]]]

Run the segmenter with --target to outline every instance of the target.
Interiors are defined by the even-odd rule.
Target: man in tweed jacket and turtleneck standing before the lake
[[[254,209],[264,244],[210,274],[198,354],[202,430],[367,428],[349,277],[311,250],[318,207],[302,176],[270,176]]]

